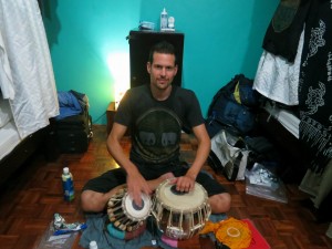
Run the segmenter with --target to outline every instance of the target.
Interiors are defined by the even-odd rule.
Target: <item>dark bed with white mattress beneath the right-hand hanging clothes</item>
[[[300,118],[297,112],[268,101],[259,112],[258,123],[286,158],[281,177],[290,184],[297,184],[300,190],[311,196],[308,205],[315,209],[318,221],[331,221],[332,160],[328,163],[323,174],[310,169],[310,153],[299,139]]]

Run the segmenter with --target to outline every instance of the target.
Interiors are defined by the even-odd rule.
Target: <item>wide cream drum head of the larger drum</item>
[[[163,206],[169,207],[173,211],[195,210],[206,205],[207,193],[200,184],[195,183],[194,190],[189,193],[178,194],[174,188],[174,184],[169,184],[168,180],[165,180],[156,189],[157,199]]]

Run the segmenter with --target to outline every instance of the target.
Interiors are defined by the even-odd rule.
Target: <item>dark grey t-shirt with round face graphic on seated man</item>
[[[156,101],[143,85],[126,92],[115,122],[131,129],[131,159],[160,165],[178,160],[181,131],[203,124],[204,118],[193,91],[173,86],[166,101]]]

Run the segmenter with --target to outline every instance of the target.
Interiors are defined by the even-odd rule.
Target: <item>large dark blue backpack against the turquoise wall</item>
[[[238,135],[255,128],[259,93],[252,85],[253,80],[237,74],[215,94],[205,121],[210,138],[221,128]]]

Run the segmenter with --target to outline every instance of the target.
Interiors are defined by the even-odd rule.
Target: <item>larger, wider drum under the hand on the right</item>
[[[158,229],[169,238],[191,238],[204,228],[210,214],[207,191],[198,183],[189,193],[177,191],[169,180],[156,189],[152,215]]]

